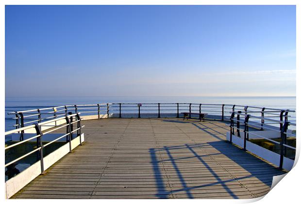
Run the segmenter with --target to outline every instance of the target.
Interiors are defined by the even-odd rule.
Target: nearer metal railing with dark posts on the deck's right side
[[[261,113],[262,116],[254,116],[251,114],[254,113]],[[264,117],[264,114],[270,113],[278,113],[278,110],[270,110],[267,111],[267,109],[263,109],[262,111],[230,111],[231,117],[230,117],[230,142],[232,143],[233,135],[241,138],[243,137],[244,144],[243,144],[243,150],[246,151],[246,143],[249,141],[249,135],[253,135],[256,137],[259,137],[261,139],[267,140],[269,142],[272,142],[274,144],[280,145],[280,161],[279,161],[279,168],[283,168],[283,162],[284,157],[287,156],[287,148],[292,149],[293,151],[296,151],[296,147],[287,145],[287,136],[293,136],[297,137],[296,134],[293,134],[292,131],[288,131],[288,126],[296,126],[295,123],[291,123],[287,120],[287,116],[289,112],[295,112],[294,110],[281,110],[281,113],[279,115],[279,119],[271,119],[268,117]],[[236,115],[236,118],[235,118]],[[278,116],[277,116],[278,117]],[[284,118],[284,120],[283,120]],[[257,121],[261,121],[261,123],[258,123]],[[272,122],[271,124],[279,124],[279,129],[275,126],[263,126],[264,121]],[[236,125],[236,126],[235,126]],[[243,127],[242,127],[243,126]],[[275,141],[270,138],[264,137],[259,134],[257,131],[250,131],[249,127],[253,127],[256,129],[265,129],[272,131],[272,135],[275,135],[274,138],[278,138],[277,135],[280,135],[281,141]],[[236,130],[236,131],[235,131]],[[240,133],[243,133],[243,136],[240,135]]]

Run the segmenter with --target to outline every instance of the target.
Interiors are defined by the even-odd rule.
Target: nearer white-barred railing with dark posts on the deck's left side
[[[12,147],[18,147],[18,145],[23,144],[27,141],[32,141],[32,140],[36,140],[36,148],[34,148],[32,151],[22,155],[21,157],[17,157],[16,159],[8,162],[5,164],[5,167],[9,167],[10,165],[13,165],[14,163],[16,163],[17,161],[33,154],[36,153],[37,154],[37,161],[41,161],[41,173],[44,172],[44,163],[43,163],[43,149],[46,148],[48,145],[50,145],[51,143],[58,141],[60,139],[63,139],[64,137],[66,137],[66,142],[69,143],[69,149],[71,152],[71,141],[73,140],[73,136],[80,136],[81,135],[81,129],[84,126],[81,126],[81,121],[82,119],[80,118],[80,112],[78,113],[74,113],[72,114],[72,112],[67,113],[67,115],[65,117],[60,117],[60,118],[55,118],[49,121],[45,121],[45,122],[41,122],[41,123],[35,123],[33,125],[30,126],[24,126],[24,127],[20,127],[17,129],[13,129],[10,131],[5,132],[5,136],[7,135],[11,135],[14,133],[21,133],[24,132],[24,130],[30,129],[30,128],[34,128],[36,131],[36,135],[33,137],[30,137],[28,139],[23,139],[21,141],[18,141],[17,143],[11,144],[9,146],[6,146],[4,149],[8,150],[11,149]],[[45,130],[44,132],[42,131],[42,127],[43,126],[48,126],[50,123],[53,124],[57,121],[60,120],[66,120],[66,123],[63,123],[62,125],[55,125],[53,126],[53,128],[48,129],[47,131]],[[73,128],[74,124],[76,124],[76,128]],[[66,134],[63,134],[61,136],[59,136],[58,138],[55,138],[47,143],[43,143],[43,136],[54,132],[56,130],[59,130],[61,128],[66,127]],[[80,144],[82,143],[81,141],[81,137],[80,137]]]

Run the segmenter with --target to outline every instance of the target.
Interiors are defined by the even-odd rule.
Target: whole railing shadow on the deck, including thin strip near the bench
[[[244,152],[241,148],[238,148],[233,144],[225,141],[225,133],[220,132],[219,130],[212,127],[212,124],[208,126],[206,125],[206,123],[194,123],[189,121],[164,121],[173,123],[191,123],[193,126],[196,126],[201,131],[204,131],[208,135],[216,138],[218,141],[208,141],[199,144],[183,144],[178,146],[164,146],[162,148],[151,148],[149,152],[151,155],[153,172],[155,174],[155,181],[158,190],[156,196],[158,198],[168,198],[169,196],[172,196],[173,193],[181,192],[186,194],[187,198],[192,199],[194,198],[194,189],[202,189],[204,187],[220,185],[229,194],[229,196],[237,199],[237,195],[235,195],[233,189],[228,185],[229,182],[239,183],[240,180],[246,178],[255,178],[270,187],[274,175],[285,173],[284,171],[278,170],[275,166],[272,166],[267,162],[261,160],[260,158]],[[220,129],[220,127],[222,126],[217,127]],[[203,151],[203,154],[200,155],[198,153],[200,151],[200,148],[209,148],[210,152],[214,150],[215,154],[206,154],[205,151]],[[181,149],[185,152],[185,156],[181,157],[181,155],[179,156],[179,153],[173,154],[173,150]],[[165,158],[162,157],[162,155],[165,155]],[[226,164],[228,163],[228,165],[225,165],[225,163],[223,163],[223,160],[218,160],[218,155],[225,156],[225,160],[227,161]],[[214,163],[216,162],[215,165],[219,165],[222,169],[224,169],[225,173],[229,173],[228,175],[230,176],[230,179],[220,177],[220,172],[216,172],[211,163],[207,162],[208,159],[204,159],[205,157],[211,157],[212,160],[210,161],[214,161]],[[185,181],[184,172],[183,170],[181,171],[181,166],[179,166],[178,162],[184,160],[189,162],[189,160],[193,158],[196,158],[200,162],[200,167],[205,167],[208,170],[212,177],[216,179],[215,182],[208,182],[204,185],[197,185],[196,183],[192,184],[191,182],[187,183]],[[217,158],[217,160],[215,160],[215,158]],[[172,166],[181,187],[168,187],[168,172],[164,168],[165,163],[168,163],[170,166]],[[238,175],[232,176],[231,172],[235,174],[235,171],[238,171],[233,167],[232,164],[237,166],[237,168],[239,169],[240,173],[238,173]]]

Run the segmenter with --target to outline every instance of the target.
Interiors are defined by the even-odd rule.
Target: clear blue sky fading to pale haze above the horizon
[[[6,6],[5,95],[296,95],[296,7]]]

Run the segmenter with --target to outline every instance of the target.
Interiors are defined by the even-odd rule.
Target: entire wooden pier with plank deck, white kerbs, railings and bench
[[[59,128],[60,126],[69,127],[67,135],[68,131],[69,133],[78,131],[76,127],[70,128],[68,122],[66,125],[62,120],[80,115],[81,120],[72,118],[69,123],[77,124],[80,128],[81,132],[77,132],[73,140],[80,138],[81,141],[72,148],[71,140],[67,141],[66,144],[69,142],[70,146],[66,148],[70,147],[70,149],[67,149],[66,154],[58,158],[49,168],[43,169],[40,175],[17,190],[14,195],[8,197],[13,199],[249,199],[267,194],[273,176],[289,171],[285,166],[289,158],[284,152],[284,147],[285,149],[294,149],[294,147],[283,142],[281,154],[279,158],[277,157],[280,163],[275,164],[252,153],[251,150],[248,151],[249,135],[244,136],[245,132],[250,133],[251,139],[251,134],[260,135],[266,131],[274,131],[274,137],[278,133],[281,138],[284,135],[292,135],[287,128],[289,110],[268,112],[267,109],[261,109],[259,114],[261,116],[264,114],[265,121],[263,121],[263,118],[256,116],[256,111],[249,107],[247,110],[246,107],[236,106],[236,109],[241,110],[234,110],[233,105],[211,104],[201,107],[201,105],[187,104],[185,108],[189,112],[196,110],[208,113],[210,110],[214,113],[219,112],[216,115],[208,115],[204,122],[200,122],[199,118],[193,117],[183,120],[179,115],[179,111],[184,109],[181,108],[181,104],[173,104],[175,110],[172,113],[165,112],[167,108],[163,108],[162,104],[149,105],[158,107],[155,111],[149,110],[151,113],[142,112],[142,107],[146,105],[132,104],[131,106],[132,109],[134,107],[137,109],[128,112],[114,109],[114,107],[121,108],[121,104],[87,105],[82,106],[83,109],[80,106],[75,108],[66,106],[61,107],[63,112],[61,116],[58,116],[59,108],[55,108],[55,111],[52,108],[51,112],[47,110],[47,113],[45,110],[48,118],[50,112],[52,115],[56,114],[56,119],[49,118],[48,122],[44,122],[52,125],[42,132],[53,130],[51,133],[62,136],[66,135],[66,131],[65,128]],[[217,107],[218,110],[214,109]],[[227,108],[229,110],[226,110]],[[81,114],[68,113],[75,109],[77,113],[82,110]],[[252,125],[251,122],[244,123],[247,117],[240,115],[243,110],[245,111],[243,113],[247,113],[250,118],[253,116],[260,123],[254,122]],[[42,110],[33,111],[39,112],[37,116],[42,121]],[[84,116],[84,111],[89,113],[96,111],[97,114]],[[285,131],[278,126],[267,124],[268,120],[276,121],[273,117],[276,111],[280,114],[278,125]],[[22,114],[24,113],[26,112],[23,111]],[[272,117],[269,117],[268,113]],[[33,113],[29,111],[28,114]],[[18,115],[19,113],[16,112],[20,123]],[[61,122],[53,124],[53,120]],[[26,130],[23,133],[17,131],[20,128],[24,129],[18,127],[19,123],[16,123],[17,129],[12,131],[19,132],[18,135],[23,134],[24,141]],[[37,125],[40,126],[39,123]],[[237,134],[239,131],[241,131],[240,137]],[[83,133],[84,137],[82,137]],[[230,135],[231,141],[229,141]],[[262,137],[271,140],[267,135]],[[235,138],[245,140],[245,146],[235,144]]]

